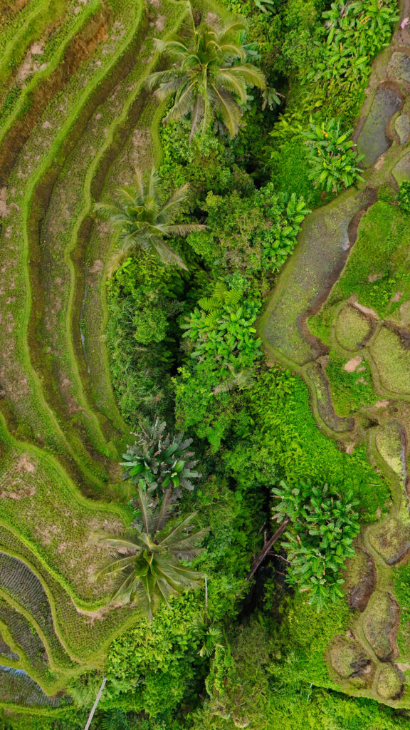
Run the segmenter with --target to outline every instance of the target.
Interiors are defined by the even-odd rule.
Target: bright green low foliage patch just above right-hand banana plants
[[[387,484],[368,464],[364,447],[343,453],[317,428],[300,377],[271,368],[232,407],[229,448],[222,456],[239,485],[270,489],[282,479],[292,485],[327,482],[336,492],[354,492],[361,520],[376,519],[377,508],[390,496]]]

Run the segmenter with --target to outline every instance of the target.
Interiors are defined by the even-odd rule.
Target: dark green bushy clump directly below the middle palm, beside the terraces
[[[128,258],[107,283],[112,380],[120,411],[131,425],[141,416],[171,410],[168,369],[183,291],[179,272],[144,251]]]

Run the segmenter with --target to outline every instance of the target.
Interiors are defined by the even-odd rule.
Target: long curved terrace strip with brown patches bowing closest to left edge
[[[15,172],[10,179],[11,183],[13,178],[15,179],[16,198],[20,200],[20,212],[18,216],[15,213],[11,216],[11,231],[9,231],[7,246],[9,250],[21,253],[21,258],[19,264],[15,261],[15,266],[10,272],[14,280],[16,276],[19,277],[19,285],[15,285],[18,296],[16,296],[15,301],[9,302],[9,313],[6,316],[13,321],[16,317],[19,321],[13,330],[16,337],[15,349],[12,356],[7,358],[7,364],[13,372],[9,377],[9,382],[18,383],[20,380],[25,387],[16,388],[15,397],[11,399],[9,405],[12,407],[18,423],[26,423],[27,435],[37,437],[37,434],[42,434],[42,441],[45,442],[45,445],[48,442],[48,445],[63,453],[70,453],[70,448],[67,447],[66,439],[61,433],[55,416],[45,404],[40,380],[33,373],[28,361],[28,347],[26,334],[24,334],[30,310],[28,299],[30,288],[26,269],[30,207],[36,185],[47,173],[50,165],[55,164],[62,145],[66,143],[67,135],[72,134],[76,128],[76,120],[80,110],[90,103],[93,93],[98,90],[101,80],[104,79],[106,66],[111,67],[112,64],[115,64],[115,58],[118,58],[123,52],[127,42],[128,36],[125,34],[123,43],[116,42],[115,48],[112,49],[115,53],[107,53],[106,55],[102,55],[104,49],[100,47],[97,56],[101,56],[104,64],[101,63],[101,66],[98,67],[95,63],[96,59],[91,59],[83,65],[77,76],[71,78],[68,87],[53,100],[43,116],[42,123],[39,123],[34,133],[31,134],[24,148],[24,157],[18,161]],[[66,97],[65,104],[63,97]],[[64,115],[66,115],[65,123]],[[45,125],[44,120],[47,120],[47,125]],[[38,158],[41,159],[41,163],[36,162]],[[34,166],[31,177],[29,177],[31,170],[28,163],[30,159],[33,160]],[[22,177],[29,179],[29,182],[26,181],[25,186],[21,185]],[[21,245],[22,240],[23,246]],[[6,253],[4,250],[4,254],[9,258],[9,251]],[[24,280],[26,280],[25,283]],[[14,310],[14,312],[10,310]],[[83,456],[81,456],[82,453]],[[87,464],[87,456],[84,455],[81,445],[79,445],[78,451],[71,451],[71,458],[77,463],[80,470],[86,476],[88,475],[90,483],[94,482],[96,486],[101,485],[101,474],[98,474],[98,465],[90,460]]]

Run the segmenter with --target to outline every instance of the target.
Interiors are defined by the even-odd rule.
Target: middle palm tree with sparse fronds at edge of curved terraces
[[[165,239],[169,236],[187,236],[192,231],[206,228],[199,224],[171,224],[175,212],[185,200],[188,186],[182,185],[162,202],[155,167],[150,170],[147,184],[144,184],[142,174],[136,170],[135,182],[134,186],[118,188],[115,199],[96,203],[94,207],[100,218],[109,220],[119,231],[120,248],[112,255],[109,276],[138,247],[147,253],[156,253],[164,264],[186,269],[182,258]]]

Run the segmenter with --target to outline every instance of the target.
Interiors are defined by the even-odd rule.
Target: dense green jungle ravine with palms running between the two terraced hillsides
[[[303,381],[269,366],[258,337],[304,218],[360,178],[350,134],[397,4],[224,4],[238,22],[227,33],[194,7],[182,40],[160,45],[156,169],[96,201],[96,217],[120,231],[107,346],[133,434],[122,467],[134,520],[96,537],[107,546],[98,580],[120,575],[114,599],[135,601],[142,619],[111,645],[94,723],[404,729],[406,712],[339,694],[323,654],[346,629],[342,568],[387,484],[363,447],[343,453],[317,429]],[[206,93],[190,42],[211,55]],[[61,710],[42,728],[82,728],[100,683],[98,672],[74,681],[77,718]],[[21,723],[0,718],[4,730],[40,727]]]

